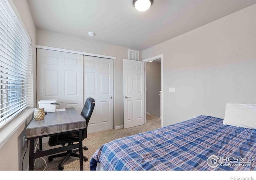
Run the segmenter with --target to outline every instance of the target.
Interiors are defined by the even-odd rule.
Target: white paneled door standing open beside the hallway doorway
[[[124,59],[124,128],[144,124],[144,62]]]

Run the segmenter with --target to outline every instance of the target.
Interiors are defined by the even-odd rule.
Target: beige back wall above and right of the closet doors
[[[36,44],[116,57],[114,60],[114,127],[123,125],[123,59],[128,58],[128,48],[40,29],[36,30]]]

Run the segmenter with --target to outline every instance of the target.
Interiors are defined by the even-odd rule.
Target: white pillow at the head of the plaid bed
[[[226,104],[223,124],[256,129],[256,104]]]

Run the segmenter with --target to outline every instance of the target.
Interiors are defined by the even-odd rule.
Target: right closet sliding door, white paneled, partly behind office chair
[[[95,107],[88,124],[88,132],[113,129],[114,83],[113,60],[84,56],[84,102],[95,99]]]

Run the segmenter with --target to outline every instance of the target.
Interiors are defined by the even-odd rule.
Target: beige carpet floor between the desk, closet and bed
[[[154,130],[161,127],[161,119],[155,116],[151,116],[147,114],[147,124],[136,126],[127,129],[110,129],[104,130],[100,132],[88,133],[87,138],[83,140],[83,146],[87,146],[88,150],[83,150],[83,155],[88,158],[87,162],[84,162],[84,170],[90,170],[90,159],[92,154],[107,142],[112,140],[131,136],[134,134],[138,134],[141,132],[146,132],[149,130]],[[61,145],[60,145],[61,146]],[[43,149],[48,150],[50,148],[56,148],[58,146],[49,147],[48,143],[43,144]],[[42,158],[37,158],[35,161],[34,170],[58,170],[58,165],[62,161],[64,157],[54,158],[52,162],[48,161],[48,156],[44,156]],[[45,162],[44,162],[45,160]],[[45,164],[46,163],[46,164]],[[76,171],[79,170],[79,158],[69,157],[68,160],[64,163],[64,170],[66,171]]]

